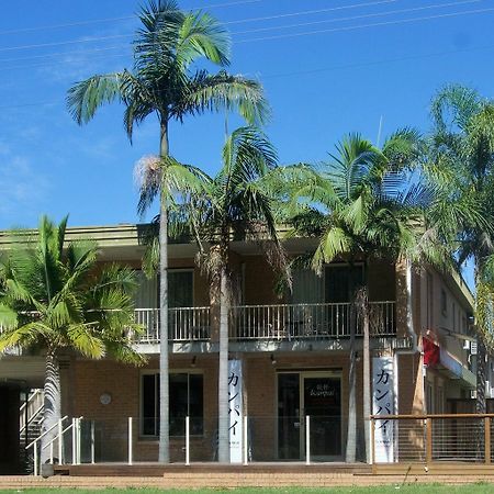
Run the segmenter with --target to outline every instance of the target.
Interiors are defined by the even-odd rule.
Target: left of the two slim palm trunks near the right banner
[[[350,302],[350,366],[348,369],[348,427],[347,427],[347,463],[355,463],[357,451],[357,356],[356,356],[356,330],[357,313],[355,296]]]

